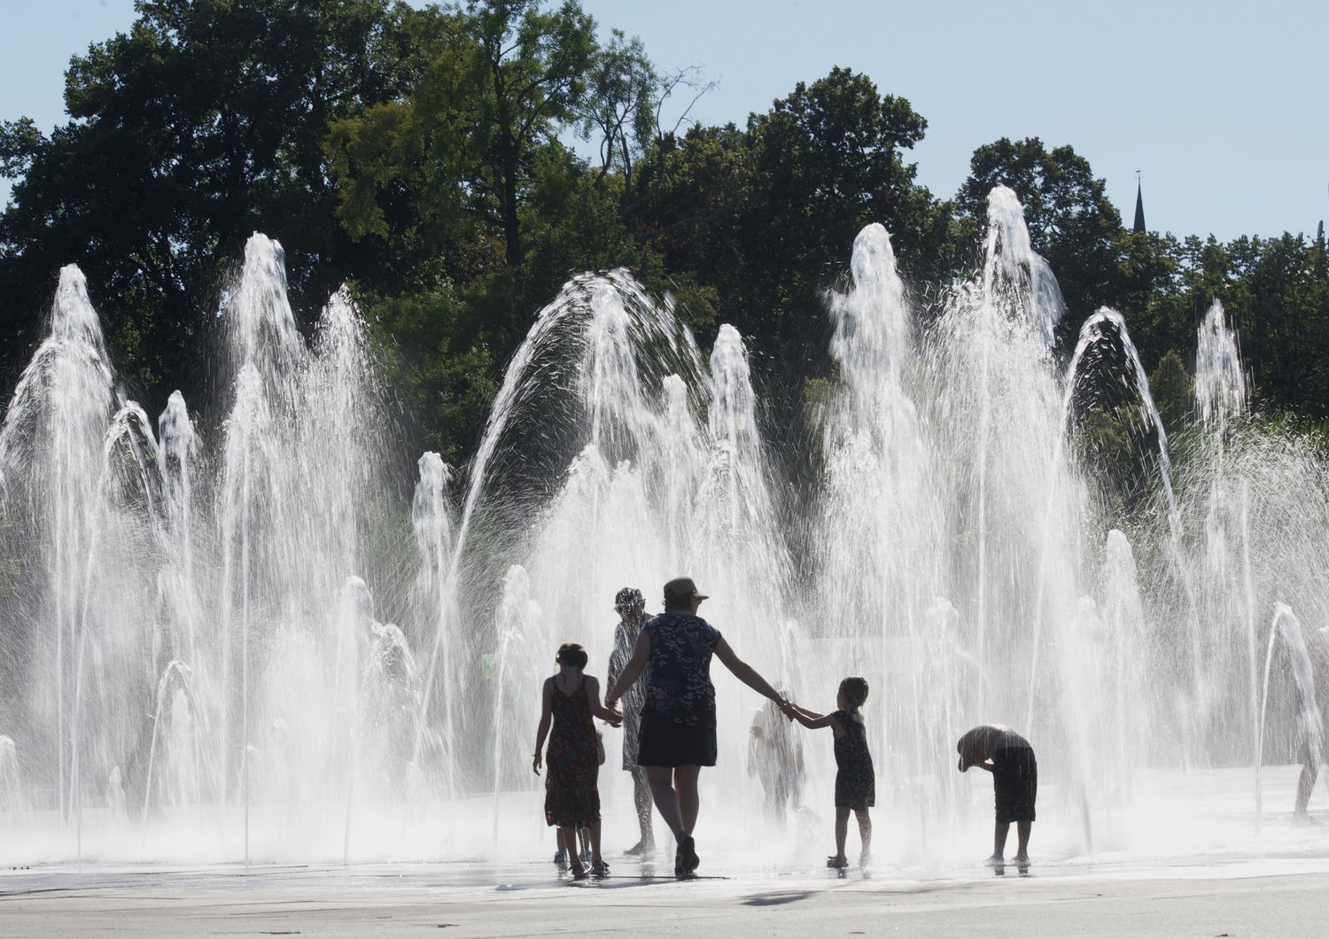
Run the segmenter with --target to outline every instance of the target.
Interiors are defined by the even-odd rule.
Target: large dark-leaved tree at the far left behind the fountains
[[[104,300],[117,361],[161,398],[194,390],[207,313],[253,231],[287,247],[306,309],[372,268],[335,223],[323,139],[330,121],[409,85],[408,15],[387,0],[158,0],[76,57],[69,124],[0,126],[17,178],[0,216],[0,304],[19,317],[8,368],[69,262]]]

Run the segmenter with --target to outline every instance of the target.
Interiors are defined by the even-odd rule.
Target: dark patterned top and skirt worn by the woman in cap
[[[639,766],[715,765],[715,685],[711,653],[720,631],[700,616],[666,612],[645,627],[651,638]]]

